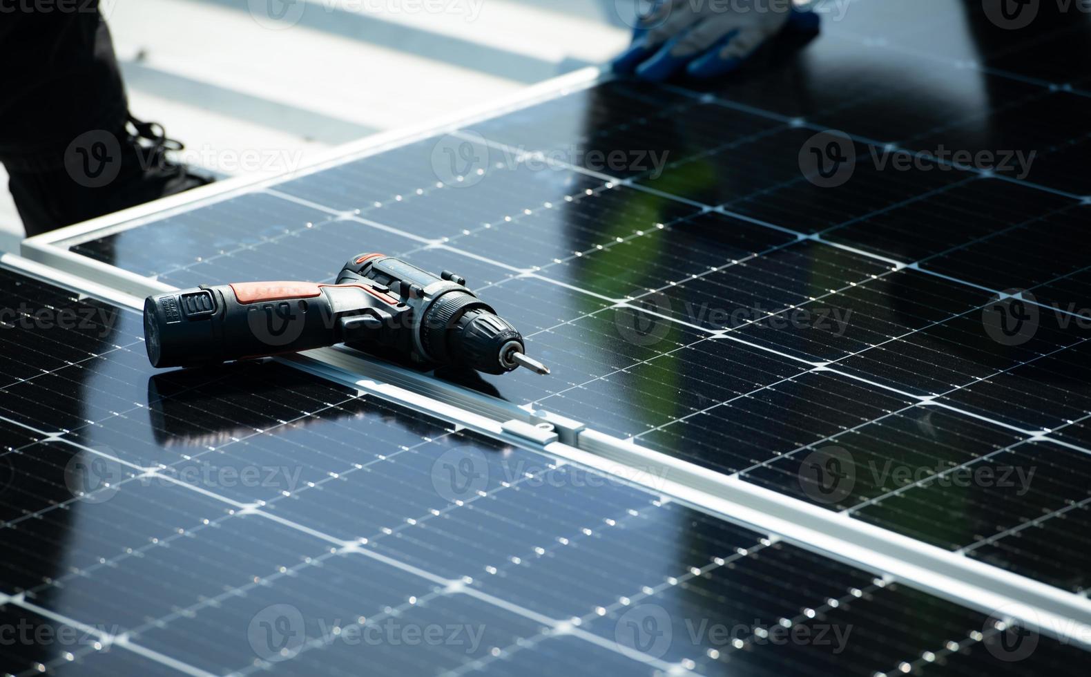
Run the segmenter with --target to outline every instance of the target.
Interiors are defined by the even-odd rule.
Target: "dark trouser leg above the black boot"
[[[128,115],[98,0],[40,4],[0,0],[0,161],[27,235],[111,211]]]

